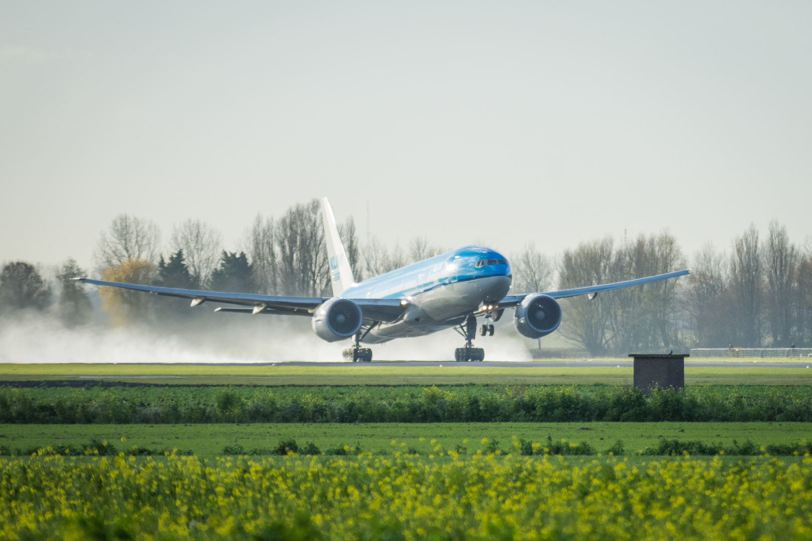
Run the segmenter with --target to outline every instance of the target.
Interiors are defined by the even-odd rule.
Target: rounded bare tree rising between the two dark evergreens
[[[220,260],[222,234],[205,221],[189,218],[172,227],[170,244],[172,251],[184,251],[192,287],[207,287]]]

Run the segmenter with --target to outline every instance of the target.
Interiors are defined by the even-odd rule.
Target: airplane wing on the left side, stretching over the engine
[[[169,297],[191,298],[195,307],[205,302],[238,304],[250,308],[218,308],[215,311],[248,312],[252,314],[279,314],[285,316],[312,316],[313,311],[329,297],[282,297],[278,295],[261,295],[253,293],[229,293],[226,291],[184,290],[178,287],[142,286],[120,281],[93,280],[91,278],[73,278],[84,284],[96,286],[119,287],[125,290],[146,291]],[[399,298],[353,298],[364,314],[364,318],[374,321],[393,321],[403,314],[408,303]]]

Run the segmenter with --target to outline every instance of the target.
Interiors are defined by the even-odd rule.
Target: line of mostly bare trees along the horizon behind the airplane
[[[356,280],[378,276],[442,253],[425,238],[387,248],[361,243],[352,217],[339,233]],[[320,206],[296,204],[281,217],[258,214],[235,251],[201,220],[175,224],[162,243],[151,221],[121,214],[97,242],[94,274],[103,280],[186,289],[330,296]],[[793,244],[772,221],[766,236],[751,225],[728,251],[708,243],[687,257],[667,232],[630,241],[605,237],[551,257],[533,243],[511,256],[514,293],[569,289],[690,268],[689,277],[564,300],[559,332],[594,356],[701,347],[788,347],[812,344],[812,243]],[[0,314],[54,308],[66,324],[84,324],[92,307],[72,277],[88,276],[74,260],[53,273],[53,284],[25,262],[0,273]],[[54,286],[57,286],[54,288]],[[58,294],[54,294],[54,289]],[[185,317],[179,305],[150,295],[100,290],[114,324]]]

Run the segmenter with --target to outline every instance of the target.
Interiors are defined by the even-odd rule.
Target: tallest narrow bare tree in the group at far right
[[[793,301],[798,253],[789,243],[784,226],[770,222],[767,246],[763,247],[764,270],[767,273],[767,314],[773,347],[793,343]]]

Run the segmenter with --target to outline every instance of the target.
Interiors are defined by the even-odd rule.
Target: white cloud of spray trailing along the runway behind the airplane
[[[229,318],[229,319],[226,319]],[[0,363],[270,363],[342,362],[351,341],[328,343],[309,320],[276,316],[225,316],[217,326],[159,333],[151,328],[65,328],[48,316],[22,316],[0,325]],[[292,321],[291,321],[292,320]],[[193,326],[192,326],[193,329]],[[372,345],[375,360],[452,361],[463,338],[451,329],[428,337]],[[529,353],[510,336],[479,337],[488,361],[526,361]]]

